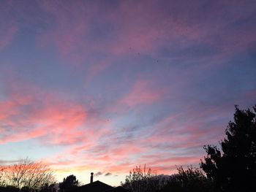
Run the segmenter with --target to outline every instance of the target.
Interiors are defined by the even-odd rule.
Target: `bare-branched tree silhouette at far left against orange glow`
[[[23,188],[23,191],[39,191],[42,186],[55,183],[53,172],[47,165],[35,163],[28,158],[19,164],[1,166],[0,176],[4,186]]]

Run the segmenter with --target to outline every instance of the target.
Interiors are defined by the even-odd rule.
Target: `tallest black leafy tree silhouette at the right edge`
[[[253,110],[236,106],[226,138],[217,146],[205,146],[200,166],[214,180],[218,191],[256,191],[256,105]]]

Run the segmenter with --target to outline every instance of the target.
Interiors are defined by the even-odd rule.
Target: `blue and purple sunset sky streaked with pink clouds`
[[[172,174],[256,104],[256,1],[1,1],[0,164]]]

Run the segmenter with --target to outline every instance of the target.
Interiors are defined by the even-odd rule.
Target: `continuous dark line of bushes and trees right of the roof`
[[[225,139],[206,145],[200,168],[178,166],[178,174],[165,177],[133,169],[122,185],[132,192],[253,192],[256,191],[256,105],[252,110],[236,106]],[[163,175],[162,175],[163,176]],[[148,182],[154,180],[154,182]],[[153,184],[154,183],[154,184]]]

